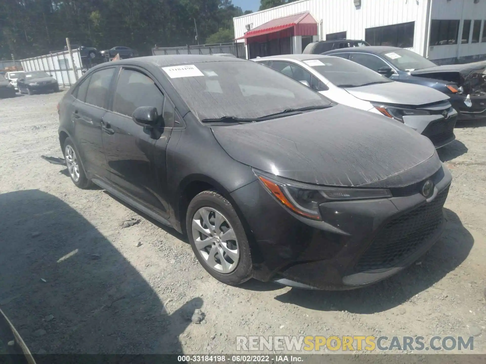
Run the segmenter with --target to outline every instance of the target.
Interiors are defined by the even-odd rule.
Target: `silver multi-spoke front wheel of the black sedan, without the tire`
[[[231,273],[240,259],[240,248],[228,219],[212,207],[202,207],[192,217],[194,245],[206,264],[218,273]]]

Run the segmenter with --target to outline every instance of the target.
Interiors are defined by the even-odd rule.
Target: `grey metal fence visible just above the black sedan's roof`
[[[230,53],[238,58],[246,58],[244,43],[204,44],[200,46],[155,47],[153,55],[164,54],[217,54]]]

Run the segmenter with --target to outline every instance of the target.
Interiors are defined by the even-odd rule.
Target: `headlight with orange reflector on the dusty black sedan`
[[[322,220],[319,205],[324,202],[392,197],[387,189],[315,186],[255,169],[253,173],[282,205],[298,215],[313,220]]]

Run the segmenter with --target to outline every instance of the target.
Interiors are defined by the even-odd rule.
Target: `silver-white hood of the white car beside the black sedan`
[[[345,90],[358,99],[401,105],[419,106],[449,99],[433,88],[403,82],[377,83]]]

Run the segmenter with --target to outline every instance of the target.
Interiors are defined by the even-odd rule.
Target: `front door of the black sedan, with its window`
[[[165,153],[161,155],[159,150],[165,150],[172,126],[164,126],[162,117],[152,130],[132,120],[133,112],[141,106],[156,107],[159,116],[166,119],[164,102],[161,89],[146,72],[122,68],[113,106],[104,116],[102,135],[111,182],[159,215],[168,217],[160,181],[161,176],[165,178]]]

